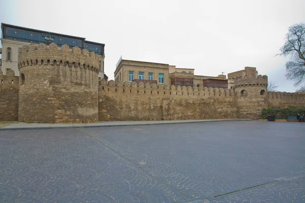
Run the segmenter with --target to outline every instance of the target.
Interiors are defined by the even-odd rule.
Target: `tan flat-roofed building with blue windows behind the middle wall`
[[[114,80],[117,82],[155,83],[192,87],[228,87],[225,75],[217,77],[196,76],[195,69],[177,68],[166,63],[126,60],[120,58],[116,64]],[[205,79],[212,79],[204,81]],[[205,84],[205,85],[204,85]]]

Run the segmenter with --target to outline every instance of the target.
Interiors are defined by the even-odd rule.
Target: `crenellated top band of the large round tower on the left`
[[[59,48],[54,43],[49,46],[40,43],[19,48],[18,69],[36,65],[69,66],[98,73],[99,56],[79,47],[70,49],[68,45],[63,45]]]

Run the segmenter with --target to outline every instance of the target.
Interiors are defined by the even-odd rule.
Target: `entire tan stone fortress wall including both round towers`
[[[258,119],[265,107],[304,107],[305,94],[267,92],[267,76],[234,79],[230,89],[98,81],[99,58],[78,47],[19,50],[20,78],[0,74],[0,121]]]

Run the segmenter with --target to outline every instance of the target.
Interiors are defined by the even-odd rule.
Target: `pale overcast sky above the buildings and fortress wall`
[[[105,73],[119,57],[195,69],[217,76],[257,67],[278,91],[298,87],[274,57],[288,27],[305,22],[305,0],[6,1],[0,21],[105,44]]]

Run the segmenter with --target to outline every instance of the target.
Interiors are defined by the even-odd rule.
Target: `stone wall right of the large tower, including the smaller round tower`
[[[102,81],[99,120],[258,119],[267,80],[238,79],[231,89]]]

